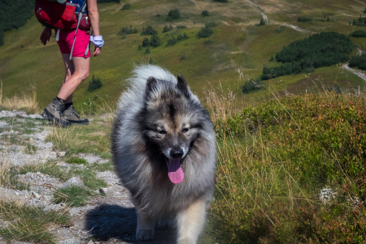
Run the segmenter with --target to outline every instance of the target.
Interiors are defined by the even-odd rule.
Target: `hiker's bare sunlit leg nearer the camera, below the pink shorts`
[[[63,58],[64,55],[67,54],[62,54]],[[76,87],[89,76],[90,57],[72,57],[71,61],[74,65],[74,72],[72,74],[70,73],[71,76],[63,83],[59,95],[57,95],[57,97],[66,100],[66,103],[71,102],[72,93],[75,91]],[[69,101],[68,99],[70,96],[71,98]]]

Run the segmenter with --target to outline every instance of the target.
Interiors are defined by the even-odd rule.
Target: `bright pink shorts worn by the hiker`
[[[76,29],[72,30],[60,30],[59,33],[59,44],[61,53],[70,54],[72,43],[74,43]],[[88,51],[87,55],[85,55],[86,47],[89,45],[89,32],[88,30],[79,29],[76,33],[76,40],[74,49],[72,50],[72,57],[90,57],[90,50]],[[55,30],[55,34],[57,36],[57,30]]]

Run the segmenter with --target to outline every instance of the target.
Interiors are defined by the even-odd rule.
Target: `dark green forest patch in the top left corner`
[[[0,8],[0,46],[4,45],[4,31],[22,27],[34,15],[33,0],[2,0]]]

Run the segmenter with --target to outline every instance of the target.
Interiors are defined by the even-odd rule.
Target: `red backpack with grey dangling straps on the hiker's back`
[[[79,7],[79,12],[75,12],[76,7]],[[86,0],[82,6],[75,3],[59,3],[52,0],[36,0],[36,8],[34,13],[38,21],[46,27],[57,29],[56,41],[60,30],[76,28],[74,44],[76,40],[76,32],[78,28],[89,29],[91,27],[89,17],[84,14],[86,8]],[[77,17],[76,17],[77,15]],[[74,49],[74,44],[72,49]],[[72,57],[72,49],[70,60]],[[89,49],[85,52],[87,53]]]

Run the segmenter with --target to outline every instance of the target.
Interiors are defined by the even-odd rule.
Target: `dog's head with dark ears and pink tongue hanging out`
[[[158,146],[169,160],[168,171],[173,183],[183,180],[181,163],[197,141],[208,118],[186,80],[178,75],[178,83],[149,77],[146,83],[144,110],[145,136]],[[175,174],[174,173],[174,174]]]

